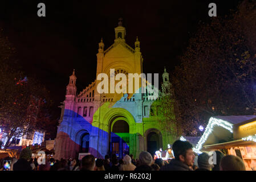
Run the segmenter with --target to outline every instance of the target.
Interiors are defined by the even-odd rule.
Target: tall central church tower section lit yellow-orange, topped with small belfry
[[[115,27],[115,40],[114,43],[109,46],[107,49],[104,49],[104,43],[103,39],[101,38],[101,42],[99,43],[99,49],[97,53],[97,69],[96,69],[96,92],[95,92],[95,101],[105,101],[105,99],[109,99],[113,101],[120,100],[121,97],[123,97],[123,94],[117,94],[115,92],[115,87],[113,86],[112,82],[115,82],[116,85],[118,81],[115,80],[115,77],[112,77],[111,71],[115,69],[115,76],[118,73],[124,73],[127,75],[127,81],[128,81],[128,74],[137,73],[140,75],[142,71],[142,64],[143,64],[143,57],[140,52],[140,42],[139,39],[136,39],[135,42],[135,48],[130,47],[127,43],[125,43],[125,35],[126,30],[125,27],[123,27],[122,18],[119,18],[118,26]],[[101,77],[104,73],[108,75],[109,84],[108,84],[108,94],[105,93],[99,93],[97,92],[97,88],[99,83],[103,80]],[[99,76],[99,79],[97,80]],[[114,81],[111,81],[113,78]],[[139,88],[141,87],[141,81],[139,81]],[[100,88],[100,87],[99,87]],[[133,86],[135,88],[135,86]],[[138,89],[139,89],[138,88]],[[129,86],[127,85],[127,93]],[[135,90],[136,91],[136,90]],[[133,92],[135,93],[135,92]],[[133,94],[128,94],[128,97],[131,97]],[[139,97],[139,96],[137,96]]]

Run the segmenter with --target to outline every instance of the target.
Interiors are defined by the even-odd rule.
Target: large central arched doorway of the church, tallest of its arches
[[[117,118],[109,126],[111,127],[109,153],[122,159],[125,155],[129,155],[129,125],[122,118]]]

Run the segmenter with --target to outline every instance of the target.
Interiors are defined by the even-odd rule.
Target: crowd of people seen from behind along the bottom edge
[[[32,159],[29,148],[21,151],[19,159],[11,159],[11,171],[245,171],[243,160],[234,155],[224,155],[216,151],[215,163],[210,163],[210,156],[202,153],[198,156],[192,150],[192,144],[177,140],[172,146],[174,159],[153,159],[147,151],[142,151],[139,159],[133,155],[125,155],[118,159],[112,155],[110,159],[96,159],[94,155],[86,155],[78,159],[47,159],[45,164],[38,164]],[[0,162],[0,171],[3,170],[3,160]]]

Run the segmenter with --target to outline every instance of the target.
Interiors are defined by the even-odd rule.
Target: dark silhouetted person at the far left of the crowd
[[[29,148],[24,148],[19,155],[19,160],[13,164],[13,171],[32,171],[30,159],[32,151]]]

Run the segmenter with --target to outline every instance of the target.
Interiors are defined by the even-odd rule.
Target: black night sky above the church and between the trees
[[[46,17],[38,17],[38,3]],[[17,49],[19,64],[28,77],[36,77],[50,90],[54,113],[60,116],[72,70],[78,93],[96,77],[100,38],[105,49],[115,39],[114,28],[123,18],[126,42],[134,48],[139,36],[144,73],[173,71],[177,57],[188,46],[198,22],[209,22],[208,5],[217,15],[229,14],[239,1],[1,1],[0,28]],[[161,82],[161,80],[160,80]]]

